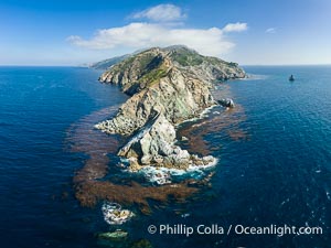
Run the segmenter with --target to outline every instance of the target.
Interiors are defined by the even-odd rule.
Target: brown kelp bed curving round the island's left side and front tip
[[[184,201],[197,192],[194,181],[162,186],[143,186],[135,181],[117,184],[106,181],[111,173],[107,154],[115,154],[124,143],[119,136],[108,136],[94,129],[94,125],[115,115],[117,106],[105,108],[82,118],[68,129],[67,142],[71,151],[82,152],[88,158],[85,165],[78,170],[73,179],[75,196],[82,206],[94,206],[98,201],[106,200],[122,205],[138,205],[142,213],[149,213],[148,200],[167,202],[169,197]],[[201,185],[200,185],[201,186]]]

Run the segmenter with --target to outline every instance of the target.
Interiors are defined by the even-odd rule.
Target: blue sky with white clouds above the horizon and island
[[[0,65],[183,44],[241,65],[331,64],[330,0],[0,0]]]

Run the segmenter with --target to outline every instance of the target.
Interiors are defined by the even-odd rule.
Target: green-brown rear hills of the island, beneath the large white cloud
[[[175,45],[152,47],[131,55],[110,67],[103,80],[119,84],[124,91],[134,95],[160,82],[172,68],[210,82],[245,76],[236,63],[203,56],[186,46]]]

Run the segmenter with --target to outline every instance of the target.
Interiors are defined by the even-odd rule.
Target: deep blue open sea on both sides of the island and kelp
[[[258,76],[225,85],[239,121],[204,137],[220,159],[212,187],[194,201],[132,219],[125,227],[134,239],[164,248],[331,247],[331,66],[245,69]],[[99,84],[99,74],[0,67],[1,247],[98,247],[94,234],[109,228],[99,207],[81,207],[74,198],[72,177],[86,154],[66,144],[73,123],[126,99],[116,87]],[[215,108],[213,115],[231,114]],[[178,208],[190,216],[181,218]],[[323,234],[148,235],[149,224],[167,223],[320,226]]]

